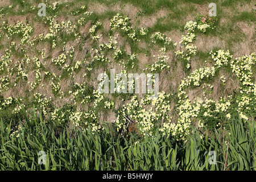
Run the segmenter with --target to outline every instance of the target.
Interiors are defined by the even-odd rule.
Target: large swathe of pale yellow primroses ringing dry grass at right
[[[240,117],[245,120],[249,120],[250,110],[255,106],[255,84],[253,83],[252,65],[255,64],[255,53],[250,56],[243,56],[242,58],[232,59],[229,51],[219,50],[211,52],[212,59],[214,60],[213,67],[204,67],[196,69],[187,78],[181,80],[179,86],[179,119],[177,123],[166,123],[164,129],[168,136],[172,136],[172,139],[185,140],[186,135],[191,134],[192,118],[202,119],[204,117],[213,117],[214,119],[220,118],[221,113],[225,115],[227,119],[231,118],[229,108],[233,100],[237,102],[237,111]],[[228,99],[220,98],[219,101],[214,101],[204,97],[204,101],[201,98],[195,98],[192,102],[189,100],[185,88],[188,86],[200,86],[203,81],[207,81],[208,78],[213,78],[216,73],[222,67],[233,68],[233,72],[236,73],[237,78],[242,82],[240,86],[241,96],[233,98],[232,95],[228,96]],[[242,78],[241,78],[242,77]],[[222,77],[222,79],[224,79]],[[212,88],[212,86],[210,86]],[[205,96],[205,94],[204,94]],[[193,103],[193,104],[192,104]],[[233,107],[233,106],[232,106]],[[205,121],[205,119],[203,119]],[[219,126],[218,124],[217,126]],[[200,123],[200,127],[207,126],[207,123]]]

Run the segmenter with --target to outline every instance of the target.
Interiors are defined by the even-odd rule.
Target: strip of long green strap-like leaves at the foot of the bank
[[[34,115],[36,115],[34,113]],[[120,136],[111,123],[100,133],[59,130],[35,117],[20,122],[20,130],[0,122],[1,170],[254,170],[255,121],[232,119],[230,133],[216,130],[200,138],[195,130],[187,143],[171,142],[156,132]],[[38,159],[44,151],[46,164]],[[210,153],[212,151],[212,153]],[[216,161],[213,158],[216,154]],[[43,160],[39,160],[42,161]]]

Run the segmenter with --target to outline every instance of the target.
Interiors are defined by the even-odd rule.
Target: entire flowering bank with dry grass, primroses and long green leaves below
[[[3,1],[1,170],[255,169],[252,1]]]

